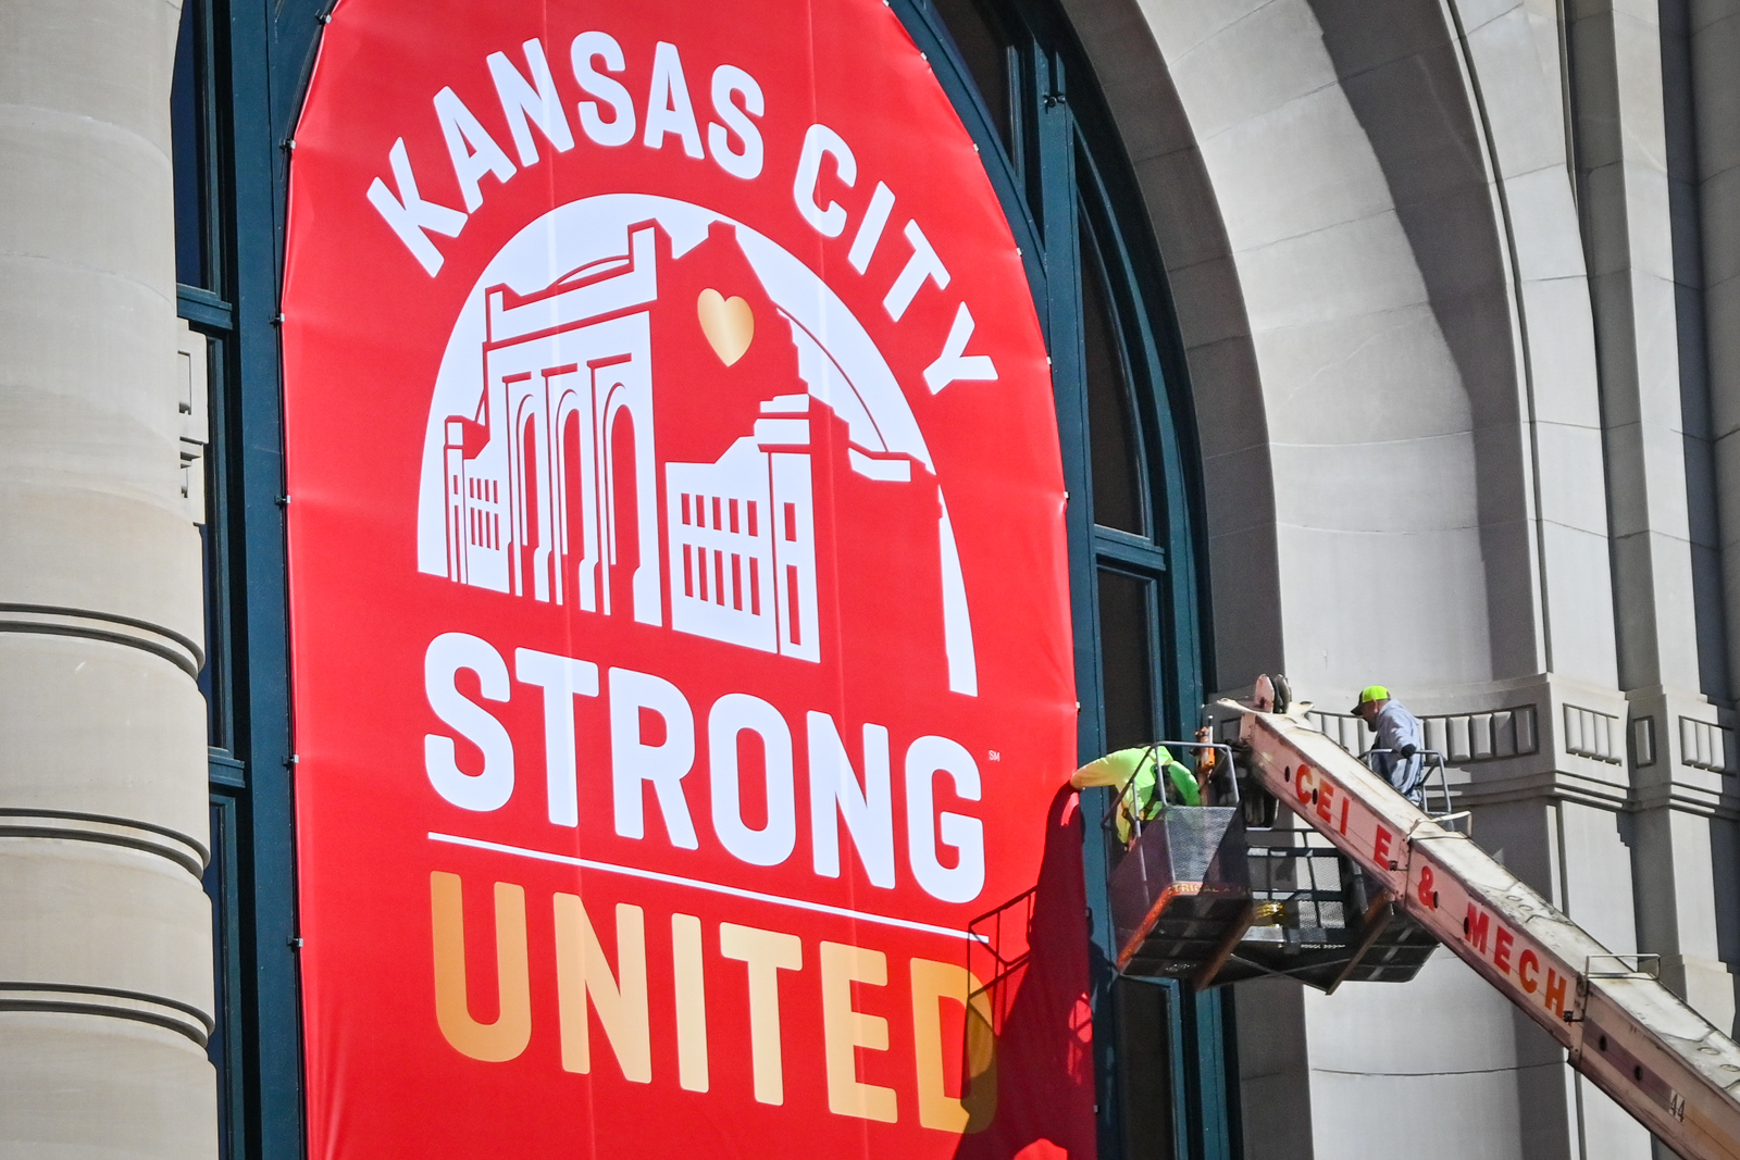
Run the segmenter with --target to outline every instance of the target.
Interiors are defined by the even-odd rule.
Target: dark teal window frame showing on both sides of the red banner
[[[1049,0],[980,9],[1006,66],[1007,90],[992,92],[990,101],[933,3],[893,0],[980,144],[1053,353],[1072,496],[1081,757],[1107,748],[1108,682],[1129,680],[1103,663],[1103,576],[1140,583],[1148,614],[1148,720],[1155,734],[1183,736],[1213,685],[1201,480],[1171,303],[1140,191],[1086,56]],[[183,318],[209,339],[212,384],[205,527],[212,661],[202,678],[212,706],[207,889],[219,1014],[212,1059],[223,1155],[235,1160],[301,1160],[304,1153],[277,315],[287,143],[329,7],[331,0],[186,0],[177,50],[179,301]],[[1093,256],[1084,257],[1084,245]],[[1084,277],[1100,280],[1129,390],[1147,510],[1140,534],[1093,518]],[[1098,802],[1084,805],[1089,817],[1098,816]],[[1084,857],[1101,1155],[1241,1155],[1230,1002],[1176,984],[1114,979],[1107,850],[1098,833],[1089,833]]]

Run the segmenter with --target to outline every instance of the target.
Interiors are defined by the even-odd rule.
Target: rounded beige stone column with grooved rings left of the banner
[[[177,5],[0,0],[0,1158],[216,1157]]]

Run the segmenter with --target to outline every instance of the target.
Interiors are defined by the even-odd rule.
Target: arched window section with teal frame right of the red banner
[[[1070,490],[1081,757],[1188,737],[1208,657],[1190,407],[1162,268],[1110,115],[1044,0],[903,0],[896,10],[980,146],[1046,329]],[[1098,802],[1084,807],[1098,817]],[[1235,1155],[1230,1003],[1114,979],[1108,859],[1093,824],[1086,859],[1103,1155]]]

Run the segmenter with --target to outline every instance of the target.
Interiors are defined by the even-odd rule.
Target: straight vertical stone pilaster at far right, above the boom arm
[[[1663,7],[1669,10],[1672,5]],[[1670,221],[1670,134],[1656,5],[1573,0],[1568,7],[1583,228],[1601,341],[1608,499],[1618,583],[1620,689],[1630,703],[1637,948],[1662,955],[1662,977],[1724,1031],[1733,934],[1712,889],[1733,802],[1719,770],[1695,765],[1684,737],[1719,729],[1703,692],[1726,689],[1700,664],[1695,527],[1710,475],[1695,357],[1683,377],[1681,292]],[[1714,642],[1705,642],[1707,652]],[[1681,722],[1693,722],[1690,729]],[[1690,760],[1688,760],[1690,758]],[[1575,894],[1573,887],[1573,894]],[[1597,892],[1601,894],[1601,892]],[[1573,913],[1573,917],[1576,917]],[[1622,950],[1622,948],[1615,948]]]

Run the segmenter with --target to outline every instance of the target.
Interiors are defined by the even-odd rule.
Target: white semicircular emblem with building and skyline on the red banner
[[[786,323],[807,390],[764,400],[753,431],[717,463],[666,463],[659,536],[659,252],[687,254],[715,226],[734,235]],[[564,268],[541,283],[550,275],[539,271]],[[454,323],[425,447],[419,569],[652,626],[665,626],[668,593],[670,628],[821,661],[813,424],[828,419],[846,424],[858,477],[903,483],[915,464],[934,475],[875,343],[792,254],[670,198],[559,207],[503,247]],[[938,504],[948,689],[976,696],[960,555],[940,492]]]

